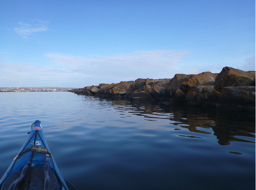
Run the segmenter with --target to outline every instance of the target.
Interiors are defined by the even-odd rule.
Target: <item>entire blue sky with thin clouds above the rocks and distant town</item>
[[[255,0],[0,0],[0,87],[255,70]]]

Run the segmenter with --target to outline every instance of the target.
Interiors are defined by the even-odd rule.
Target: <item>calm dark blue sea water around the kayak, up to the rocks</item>
[[[0,177],[37,119],[78,190],[255,190],[255,113],[0,93]]]

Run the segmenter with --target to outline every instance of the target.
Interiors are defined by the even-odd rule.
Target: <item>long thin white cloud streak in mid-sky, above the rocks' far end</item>
[[[152,51],[137,51],[130,54],[116,54],[112,56],[74,56],[70,54],[48,53],[45,54],[52,62],[66,66],[67,68],[96,68],[106,69],[114,67],[114,69],[123,70],[124,68],[132,68],[135,71],[137,68],[161,68],[175,69],[176,65],[190,51],[177,50],[152,50]]]

